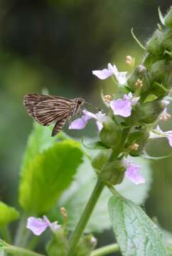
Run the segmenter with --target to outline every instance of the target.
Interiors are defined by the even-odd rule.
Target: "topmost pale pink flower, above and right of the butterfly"
[[[127,72],[119,72],[116,65],[110,63],[107,65],[107,68],[104,68],[103,70],[92,70],[92,74],[102,80],[114,75],[120,85],[124,85],[127,82]]]

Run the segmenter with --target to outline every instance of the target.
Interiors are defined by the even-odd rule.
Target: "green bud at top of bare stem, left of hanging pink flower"
[[[99,177],[104,183],[116,185],[123,181],[124,171],[125,167],[122,165],[122,161],[115,160],[103,167]]]

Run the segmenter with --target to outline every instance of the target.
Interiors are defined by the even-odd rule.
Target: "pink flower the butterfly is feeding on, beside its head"
[[[84,129],[87,125],[88,120],[94,118],[96,120],[97,128],[101,131],[103,127],[103,122],[107,118],[105,114],[102,112],[98,112],[97,114],[93,114],[87,110],[82,110],[82,117],[75,119],[72,124],[70,124],[69,129]]]

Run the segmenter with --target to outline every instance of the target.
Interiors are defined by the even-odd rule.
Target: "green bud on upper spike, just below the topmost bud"
[[[146,43],[146,50],[153,55],[162,55],[163,54],[163,46],[162,42],[163,32],[158,29],[154,32],[153,36]]]

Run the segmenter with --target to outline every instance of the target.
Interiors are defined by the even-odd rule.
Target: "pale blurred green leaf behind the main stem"
[[[122,196],[131,199],[135,203],[142,204],[145,202],[148,196],[151,185],[151,170],[149,161],[136,157],[133,159],[137,164],[139,163],[141,166],[143,166],[141,174],[146,179],[146,183],[138,186],[131,183],[131,181],[129,181],[127,178],[124,178],[124,181],[120,185],[115,186],[115,188],[117,191],[119,191],[119,193],[122,194]],[[75,181],[72,183],[72,186],[70,186],[68,191],[63,194],[58,204],[58,208],[60,206],[65,206],[65,208],[68,210],[69,230],[73,230],[75,228],[75,225],[80,218],[80,214],[90,198],[96,180],[97,177],[95,171],[92,169],[90,160],[85,158],[84,163],[80,166],[78,173],[75,176]],[[87,225],[87,232],[101,233],[103,230],[111,227],[107,206],[107,201],[110,196],[112,196],[112,193],[109,191],[109,189],[104,188],[104,191],[102,192],[102,195],[100,196]],[[55,214],[57,215],[57,210],[55,211]]]

